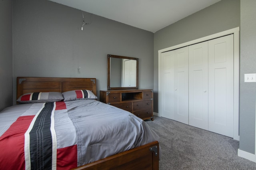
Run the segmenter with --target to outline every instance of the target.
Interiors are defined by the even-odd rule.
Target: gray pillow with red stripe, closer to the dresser
[[[97,99],[97,96],[90,90],[72,90],[62,93],[64,101],[74,101],[83,99]]]

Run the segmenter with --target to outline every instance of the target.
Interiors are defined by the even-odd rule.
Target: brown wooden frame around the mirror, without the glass
[[[119,89],[138,89],[139,88],[139,59],[134,57],[125,57],[119,55],[110,55],[108,54],[108,80],[107,80],[107,89],[108,90],[119,90]],[[136,87],[110,87],[110,57],[120,58],[120,59],[133,59],[136,60]]]

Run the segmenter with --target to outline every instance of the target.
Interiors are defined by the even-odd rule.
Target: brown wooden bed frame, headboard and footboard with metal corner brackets
[[[97,95],[96,78],[17,77],[17,99],[24,93],[91,90]],[[75,168],[77,170],[158,170],[159,144],[154,141],[143,146],[109,156]]]

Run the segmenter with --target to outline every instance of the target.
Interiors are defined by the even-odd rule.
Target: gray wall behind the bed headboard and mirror
[[[90,22],[90,14],[84,15]],[[153,89],[152,32],[96,15],[81,31],[82,21],[82,12],[74,8],[47,0],[14,0],[14,87],[17,76],[95,77],[98,91],[106,90],[107,54],[112,54],[139,58],[139,87]]]

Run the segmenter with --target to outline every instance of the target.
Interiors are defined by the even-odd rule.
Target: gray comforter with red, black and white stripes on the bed
[[[0,113],[0,169],[70,169],[159,141],[130,112],[96,100],[20,104]]]

